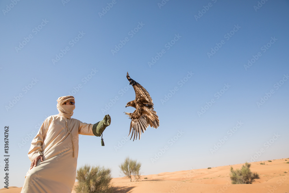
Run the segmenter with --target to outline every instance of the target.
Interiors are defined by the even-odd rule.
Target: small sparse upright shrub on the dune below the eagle
[[[136,160],[132,160],[129,157],[125,158],[125,161],[119,165],[119,168],[121,169],[121,174],[124,177],[127,177],[130,179],[134,177],[133,181],[138,181],[141,177],[140,173],[140,167],[142,164],[140,162],[137,163]]]

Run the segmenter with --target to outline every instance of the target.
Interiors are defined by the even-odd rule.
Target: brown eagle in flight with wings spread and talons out
[[[124,113],[131,119],[129,128],[129,134],[131,132],[131,128],[133,129],[131,138],[134,134],[134,139],[137,139],[138,136],[140,139],[141,132],[144,133],[144,130],[147,130],[149,125],[153,128],[158,128],[158,126],[160,126],[160,121],[157,113],[153,110],[153,100],[151,99],[151,96],[147,90],[144,89],[142,85],[132,80],[129,77],[128,72],[127,80],[130,82],[129,84],[134,87],[136,99],[128,102],[125,107],[132,106],[136,108],[136,110],[133,113]]]

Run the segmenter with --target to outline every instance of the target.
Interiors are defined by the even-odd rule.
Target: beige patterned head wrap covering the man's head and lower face
[[[70,119],[70,117],[73,115],[73,110],[75,109],[75,105],[65,105],[65,102],[74,102],[74,97],[73,96],[63,96],[59,97],[57,99],[57,110],[59,112],[58,115],[61,115],[63,117],[66,117]]]

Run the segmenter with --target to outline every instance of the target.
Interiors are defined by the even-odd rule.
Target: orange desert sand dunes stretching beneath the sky
[[[260,179],[253,184],[231,184],[230,168],[240,169],[243,164],[219,166],[211,169],[196,169],[177,172],[163,172],[142,176],[140,181],[129,182],[128,178],[112,179],[112,185],[119,193],[289,193],[289,158],[251,163],[251,171]],[[261,165],[265,162],[265,165]],[[208,166],[210,167],[210,166]],[[287,172],[287,173],[284,173]],[[144,179],[144,178],[147,179]],[[77,183],[76,183],[77,184]],[[21,188],[2,188],[0,193],[19,193]],[[73,192],[75,193],[75,192]]]

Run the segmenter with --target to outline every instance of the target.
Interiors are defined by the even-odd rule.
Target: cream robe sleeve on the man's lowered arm
[[[28,152],[28,157],[30,159],[30,161],[32,162],[32,160],[36,157],[38,157],[39,155],[42,155],[42,144],[43,144],[43,140],[44,140],[44,137],[45,137],[45,130],[47,132],[47,128],[49,125],[47,125],[49,123],[48,119],[46,119],[37,135],[34,137],[34,139],[32,140],[31,142],[31,146],[30,146],[30,149],[29,149],[29,152]]]

